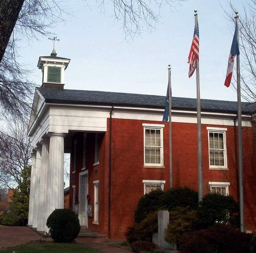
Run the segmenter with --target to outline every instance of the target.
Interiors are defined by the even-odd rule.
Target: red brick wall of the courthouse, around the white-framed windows
[[[112,191],[111,191],[111,237],[124,237],[128,226],[133,225],[133,213],[137,202],[144,194],[142,180],[166,180],[164,189],[169,188],[169,123],[163,128],[164,167],[144,168],[144,131],[142,123],[162,124],[158,121],[112,119]],[[204,194],[210,191],[209,182],[229,182],[229,194],[237,200],[237,168],[233,126],[225,127],[227,146],[227,171],[209,170],[207,125],[202,125],[203,187]],[[89,229],[107,235],[108,231],[108,173],[109,173],[109,119],[108,131],[101,134],[100,164],[94,163],[94,134],[87,135],[87,163],[89,170],[89,204],[94,203],[93,180],[99,180],[99,224],[93,225],[88,218]],[[196,124],[173,123],[173,184],[174,187],[189,186],[197,190],[197,138]],[[245,191],[245,228],[256,230],[255,164],[253,164],[252,128],[243,127],[243,164]],[[79,137],[80,136],[80,137]],[[82,168],[82,134],[77,153],[76,191],[78,194],[78,173]],[[254,142],[255,143],[255,142]],[[256,148],[255,148],[256,150]],[[72,155],[71,155],[72,165]],[[95,174],[98,169],[98,174]],[[72,168],[71,168],[72,171]],[[71,174],[71,178],[72,178]],[[71,187],[75,181],[71,180]],[[77,195],[78,196],[78,195]],[[71,200],[72,203],[72,200]],[[101,209],[102,207],[102,209]],[[254,213],[254,215],[252,215]]]

